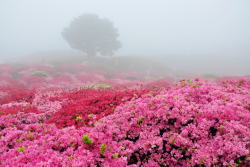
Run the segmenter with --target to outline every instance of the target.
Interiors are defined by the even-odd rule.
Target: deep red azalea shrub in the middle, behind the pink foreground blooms
[[[68,102],[46,123],[54,123],[57,128],[68,126],[79,128],[89,126],[89,123],[93,125],[95,120],[113,114],[118,105],[132,98],[139,98],[147,92],[145,90],[112,91],[105,89],[83,89],[65,93],[61,97],[50,98],[51,101],[68,99]],[[95,119],[92,118],[93,114]]]

